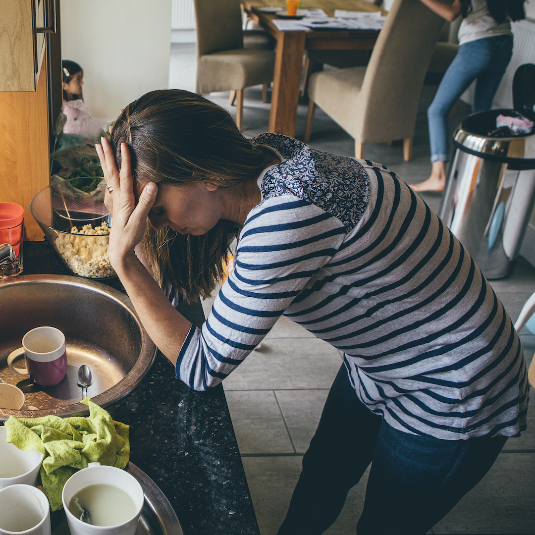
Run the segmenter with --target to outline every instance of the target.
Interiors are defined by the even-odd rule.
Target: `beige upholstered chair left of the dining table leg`
[[[243,45],[240,0],[195,0],[197,86],[200,94],[236,91],[236,124],[243,125],[243,89],[271,82],[275,52]],[[251,35],[251,38],[253,36]]]

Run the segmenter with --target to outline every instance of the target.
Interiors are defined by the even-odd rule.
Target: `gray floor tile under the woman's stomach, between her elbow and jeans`
[[[342,359],[323,340],[272,338],[253,351],[224,381],[225,391],[331,388]]]

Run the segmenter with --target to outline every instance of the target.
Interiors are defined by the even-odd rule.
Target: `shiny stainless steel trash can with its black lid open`
[[[487,279],[513,270],[535,201],[535,127],[529,134],[490,135],[499,114],[535,120],[535,65],[518,67],[513,105],[473,113],[457,127],[439,211]]]

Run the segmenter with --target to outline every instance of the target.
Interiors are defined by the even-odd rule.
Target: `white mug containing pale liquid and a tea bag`
[[[71,500],[82,489],[91,485],[112,485],[126,492],[134,502],[133,514],[120,524],[94,525],[82,522],[80,517],[73,515],[69,509]],[[101,466],[100,463],[89,463],[88,468],[83,468],[67,479],[62,492],[63,508],[67,516],[67,524],[71,535],[134,535],[137,523],[143,509],[145,497],[143,489],[137,479],[120,468]],[[81,500],[80,500],[81,501]],[[110,502],[111,503],[111,500]],[[84,503],[80,503],[83,507]],[[91,516],[90,507],[87,511]],[[93,517],[95,517],[93,513]],[[93,518],[92,517],[92,518]]]

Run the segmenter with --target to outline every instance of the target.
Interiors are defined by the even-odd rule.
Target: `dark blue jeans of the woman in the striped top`
[[[507,437],[440,440],[393,429],[338,372],[278,535],[319,535],[372,463],[357,535],[426,533],[491,468]]]

